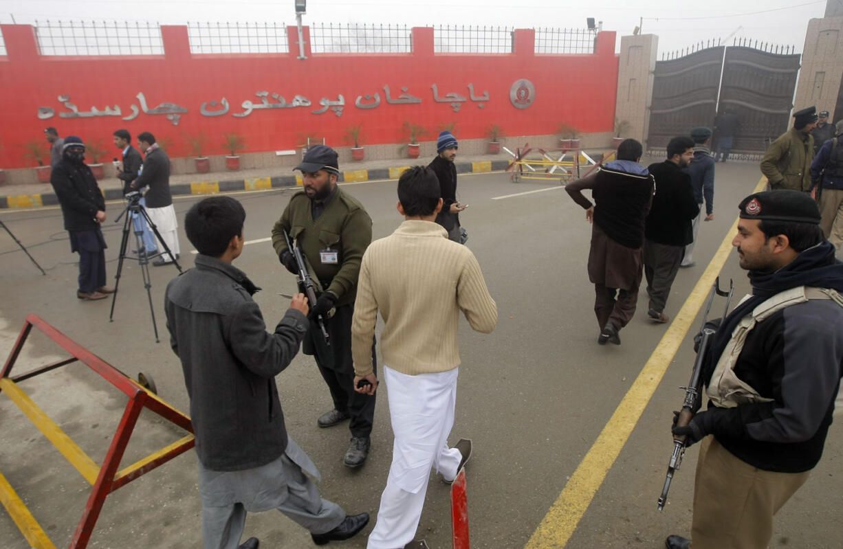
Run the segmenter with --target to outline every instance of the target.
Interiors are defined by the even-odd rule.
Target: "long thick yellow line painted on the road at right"
[[[766,183],[766,179],[761,178],[753,192],[763,190]],[[720,248],[717,248],[717,253],[714,254],[706,271],[691,290],[682,308],[679,309],[674,322],[671,322],[636,381],[632,383],[618,408],[615,408],[615,413],[609,418],[609,422],[600,432],[594,445],[577,466],[577,470],[556,498],[556,502],[550,506],[550,510],[545,514],[545,518],[542,519],[524,549],[550,549],[551,547],[561,549],[571,539],[574,530],[577,529],[577,524],[583,518],[588,505],[591,504],[591,500],[609,472],[609,468],[615,463],[632,429],[641,418],[647,402],[650,402],[652,394],[662,381],[664,372],[668,370],[670,361],[679,349],[679,344],[685,339],[685,334],[688,333],[691,322],[694,322],[697,312],[700,311],[711,285],[714,284],[715,278],[726,263],[732,251],[732,240],[737,227],[738,220],[736,219],[726,237],[723,238]],[[655,504],[655,495],[653,504]]]

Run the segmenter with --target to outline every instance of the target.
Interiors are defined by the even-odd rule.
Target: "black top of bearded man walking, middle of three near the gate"
[[[650,164],[647,170],[656,179],[656,192],[644,224],[644,236],[668,246],[692,243],[691,221],[700,213],[700,206],[694,198],[690,175],[669,160]]]

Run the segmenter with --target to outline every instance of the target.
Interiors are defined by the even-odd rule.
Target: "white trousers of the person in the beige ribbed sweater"
[[[462,456],[448,448],[448,434],[454,426],[458,375],[454,368],[407,376],[384,365],[395,443],[368,549],[399,549],[413,541],[432,467],[446,480],[457,476]]]

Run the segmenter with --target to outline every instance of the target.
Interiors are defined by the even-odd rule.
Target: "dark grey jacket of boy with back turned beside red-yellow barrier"
[[[287,448],[275,376],[307,333],[306,317],[289,309],[266,332],[243,271],[207,255],[167,285],[170,345],[191,397],[196,454],[212,471],[266,465]]]

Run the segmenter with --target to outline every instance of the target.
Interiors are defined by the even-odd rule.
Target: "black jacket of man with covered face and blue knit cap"
[[[105,211],[105,197],[91,168],[62,157],[52,168],[50,183],[62,205],[67,231],[94,231],[99,227],[95,216],[97,211]]]

